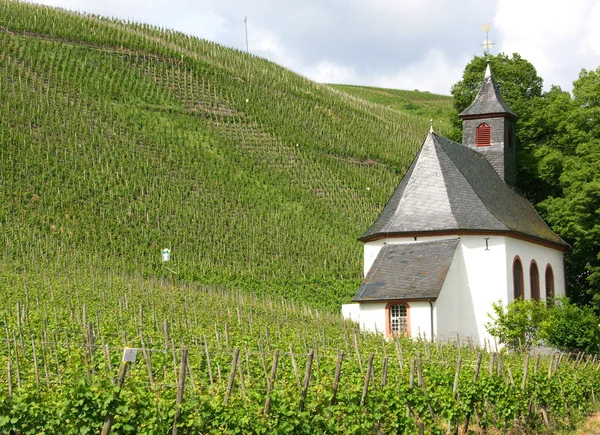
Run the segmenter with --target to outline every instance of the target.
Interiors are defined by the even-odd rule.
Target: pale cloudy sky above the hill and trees
[[[175,29],[311,80],[450,94],[483,53],[519,53],[570,91],[600,67],[598,0],[36,0]]]

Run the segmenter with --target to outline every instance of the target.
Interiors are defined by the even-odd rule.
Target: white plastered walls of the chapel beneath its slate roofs
[[[416,241],[432,241],[456,236],[419,237]],[[487,238],[487,246],[486,246]],[[414,243],[413,237],[382,239],[369,242],[364,247],[365,275],[373,265],[379,250],[385,243]],[[539,244],[506,236],[461,236],[460,243],[448,270],[440,295],[433,302],[434,334],[437,339],[462,339],[471,337],[483,345],[487,339],[485,324],[490,321],[492,304],[503,305],[513,300],[512,264],[515,256],[523,264],[525,298],[531,297],[529,267],[532,260],[538,265],[540,296],[545,298],[545,270],[550,264],[554,272],[555,295],[565,294],[563,253]],[[430,306],[428,301],[407,301],[410,306],[411,333],[416,337],[423,333],[430,339]],[[385,303],[368,303],[352,311],[357,314],[364,329],[385,333]],[[350,311],[348,311],[350,313]],[[348,317],[348,316],[345,316]]]

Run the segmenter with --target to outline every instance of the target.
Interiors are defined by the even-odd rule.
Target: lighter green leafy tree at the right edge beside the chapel
[[[541,177],[558,173],[560,193],[549,195],[539,208],[572,246],[565,264],[569,296],[600,312],[600,68],[581,71],[570,107],[561,104],[553,117],[562,126],[539,148],[538,168]]]

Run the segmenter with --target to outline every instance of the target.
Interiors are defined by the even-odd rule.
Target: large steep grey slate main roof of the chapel
[[[568,245],[485,156],[430,132],[391,199],[361,237],[398,233],[501,231]]]

